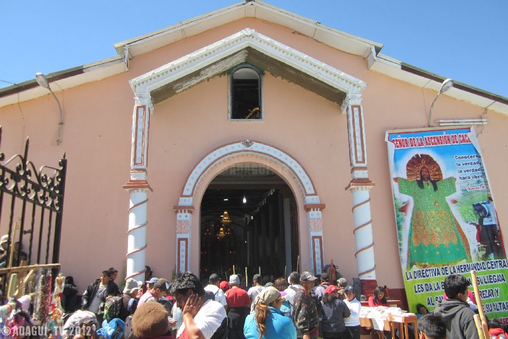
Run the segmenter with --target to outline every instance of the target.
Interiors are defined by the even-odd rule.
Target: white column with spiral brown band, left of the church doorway
[[[129,230],[127,231],[126,277],[145,280],[146,218],[148,192],[152,191],[146,181],[148,154],[148,126],[153,113],[150,96],[136,93],[132,124],[131,180],[123,189],[130,193]]]

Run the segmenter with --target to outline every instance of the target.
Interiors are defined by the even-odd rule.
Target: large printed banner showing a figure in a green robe
[[[508,262],[473,128],[390,130],[386,141],[411,311],[433,310],[444,279],[474,269],[487,317],[508,324]]]

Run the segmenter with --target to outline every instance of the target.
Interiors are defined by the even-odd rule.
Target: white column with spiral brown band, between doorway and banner
[[[345,189],[353,193],[356,265],[362,283],[362,294],[369,296],[377,286],[369,196],[374,183],[369,180],[367,171],[367,146],[361,101],[359,93],[350,93],[342,104],[342,110],[347,114],[352,177]]]

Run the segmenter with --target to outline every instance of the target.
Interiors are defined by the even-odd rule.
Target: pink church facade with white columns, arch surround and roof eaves
[[[138,280],[145,264],[157,277],[199,274],[201,200],[219,173],[242,164],[291,188],[300,270],[321,274],[334,260],[348,281],[403,289],[385,132],[427,126],[442,80],[381,47],[263,3],[235,5],[50,77],[64,112],[60,146],[45,89],[0,91],[2,151],[21,153],[29,137],[38,165],[66,152],[60,262],[80,290],[124,260]],[[227,72],[243,62],[264,70],[261,119],[231,118]],[[490,120],[478,139],[505,234],[507,114],[505,98],[467,86],[433,111]]]

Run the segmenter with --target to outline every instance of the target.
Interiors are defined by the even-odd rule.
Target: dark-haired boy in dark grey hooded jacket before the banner
[[[461,275],[451,275],[444,280],[444,292],[448,299],[436,302],[434,314],[442,316],[447,339],[479,339],[474,312],[466,301],[468,286],[469,282]]]

